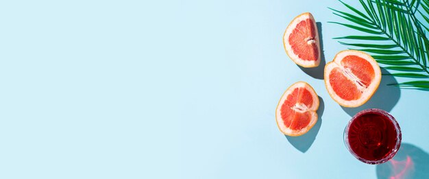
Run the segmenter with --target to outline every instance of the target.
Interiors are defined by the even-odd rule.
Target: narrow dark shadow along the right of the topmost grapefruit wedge
[[[322,27],[321,27],[321,23],[317,22],[316,23],[317,26],[317,32],[319,32],[319,40],[320,40],[320,64],[319,66],[315,67],[315,68],[304,68],[301,67],[299,65],[297,65],[299,67],[299,69],[301,69],[302,71],[304,71],[304,73],[306,73],[307,75],[310,75],[311,77],[314,77],[316,79],[323,79],[323,71],[325,69],[325,64],[326,64],[326,60],[325,60],[325,53],[323,51],[323,36],[322,36]]]

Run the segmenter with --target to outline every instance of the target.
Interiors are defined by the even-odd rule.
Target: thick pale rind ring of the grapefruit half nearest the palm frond
[[[359,99],[351,100],[351,101],[347,101],[345,99],[342,99],[338,95],[336,95],[332,86],[330,85],[330,72],[335,67],[341,67],[341,60],[343,60],[345,56],[358,56],[360,58],[367,60],[373,67],[374,72],[376,73],[376,75],[373,78],[373,81],[365,89],[361,97]],[[371,99],[372,95],[376,93],[377,88],[380,85],[381,76],[382,76],[381,70],[376,60],[374,60],[368,53],[365,53],[363,51],[357,51],[357,50],[343,50],[343,51],[340,51],[339,53],[336,53],[334,60],[332,60],[331,62],[328,62],[325,65],[325,73],[324,73],[325,86],[329,95],[332,97],[332,99],[334,99],[336,103],[347,108],[356,108],[358,106],[362,106],[369,99]],[[345,91],[345,93],[348,93],[348,92]]]

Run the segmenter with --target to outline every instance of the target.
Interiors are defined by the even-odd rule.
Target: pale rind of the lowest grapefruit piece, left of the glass
[[[283,119],[280,115],[280,108],[282,104],[286,101],[286,98],[288,97],[288,95],[291,94],[295,88],[301,88],[301,87],[306,88],[308,91],[310,91],[312,95],[312,99],[313,99],[312,105],[311,105],[311,108],[308,108],[308,111],[310,111],[310,113],[312,114],[312,117],[311,117],[310,123],[308,123],[308,126],[306,126],[305,128],[302,128],[302,130],[295,131],[284,126]],[[287,88],[286,91],[284,91],[282,97],[280,98],[277,108],[275,108],[275,121],[277,122],[277,126],[280,132],[282,132],[283,134],[288,136],[301,136],[303,134],[306,134],[306,132],[308,132],[308,130],[310,130],[317,123],[317,119],[318,119],[317,109],[319,109],[319,97],[317,96],[317,93],[312,88],[312,86],[310,86],[310,84],[306,82],[296,82],[295,84],[292,84],[291,86],[289,86],[289,88]]]

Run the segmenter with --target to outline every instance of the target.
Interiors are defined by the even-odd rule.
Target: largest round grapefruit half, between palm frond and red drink
[[[363,51],[336,53],[325,66],[325,86],[335,102],[344,107],[358,107],[377,91],[381,71],[376,60]]]

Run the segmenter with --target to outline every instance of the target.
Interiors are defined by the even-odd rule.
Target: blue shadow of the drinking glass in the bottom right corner
[[[402,143],[395,157],[376,167],[377,178],[429,178],[429,154],[419,147]]]

